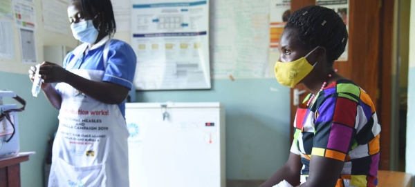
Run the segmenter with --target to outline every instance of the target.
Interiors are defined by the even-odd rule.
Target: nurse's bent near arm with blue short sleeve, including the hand
[[[108,48],[107,66],[102,81],[84,79],[49,62],[40,67],[39,74],[46,75],[44,81],[47,83],[65,82],[104,104],[120,104],[127,98],[137,59],[127,43],[111,41]],[[69,58],[66,58],[66,61],[70,61]]]

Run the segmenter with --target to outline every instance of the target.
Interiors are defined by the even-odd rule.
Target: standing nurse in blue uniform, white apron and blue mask
[[[44,62],[39,69],[42,90],[59,110],[48,186],[127,187],[124,113],[136,55],[111,39],[116,22],[110,0],[73,0],[68,18],[83,44],[66,55],[63,68]],[[35,70],[29,70],[32,81]]]

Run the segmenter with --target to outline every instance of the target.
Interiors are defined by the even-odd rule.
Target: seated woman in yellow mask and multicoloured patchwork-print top
[[[329,8],[295,11],[275,64],[279,83],[311,92],[297,109],[288,161],[261,187],[376,186],[380,125],[369,95],[333,70],[347,43],[342,19]]]

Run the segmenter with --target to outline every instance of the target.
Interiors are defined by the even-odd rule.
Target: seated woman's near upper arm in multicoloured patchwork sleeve
[[[317,108],[308,179],[301,187],[335,186],[356,137],[356,100],[334,94]]]

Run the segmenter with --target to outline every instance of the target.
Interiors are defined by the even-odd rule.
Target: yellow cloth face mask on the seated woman
[[[314,48],[313,50],[311,50],[311,52],[313,52],[317,48]],[[297,85],[299,81],[304,79],[304,77],[306,77],[308,73],[310,73],[311,70],[313,70],[315,64],[317,64],[316,62],[313,66],[311,66],[311,64],[308,63],[306,57],[308,57],[308,55],[310,55],[311,52],[308,52],[308,54],[305,57],[301,57],[296,61],[277,61],[275,63],[275,78],[277,78],[277,81],[283,86],[294,88],[294,86]]]

